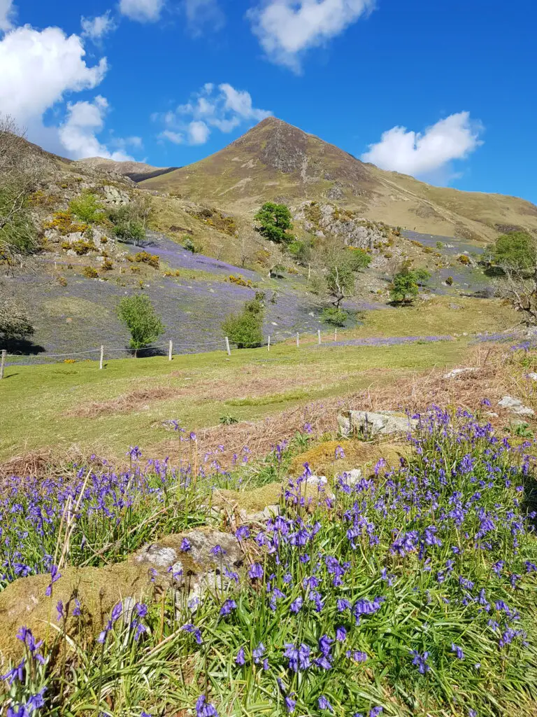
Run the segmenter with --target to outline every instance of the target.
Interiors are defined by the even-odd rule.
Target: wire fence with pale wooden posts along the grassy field
[[[329,348],[334,346],[395,346],[405,343],[430,343],[434,341],[453,341],[453,336],[388,336],[388,337],[364,337],[364,338],[340,338],[338,340],[337,329],[331,332],[322,333],[320,330],[316,334],[311,333],[289,333],[283,334],[276,332],[263,338],[263,341],[255,343],[234,343],[226,336],[220,340],[213,341],[195,341],[175,342],[168,341],[166,343],[153,343],[143,348],[115,348],[112,346],[102,346],[89,348],[85,351],[71,351],[69,353],[8,353],[5,349],[1,351],[0,359],[0,379],[4,378],[4,372],[8,366],[32,366],[47,364],[75,364],[82,361],[96,361],[103,368],[106,361],[114,359],[122,359],[127,356],[136,356],[144,358],[147,356],[167,356],[172,361],[173,356],[185,355],[188,353],[211,353],[213,351],[221,351],[231,355],[232,351],[242,348],[266,348],[271,350],[271,346],[279,343],[288,343],[296,348]]]

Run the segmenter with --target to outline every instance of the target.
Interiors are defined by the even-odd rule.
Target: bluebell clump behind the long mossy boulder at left
[[[60,527],[73,525],[70,564],[118,561],[155,536],[205,523],[203,498],[231,480],[218,454],[205,455],[195,475],[188,461],[180,468],[171,468],[168,459],[142,465],[138,447],[127,456],[130,470],[122,472],[96,462],[75,466],[74,475],[6,480],[0,493],[0,589],[19,577],[50,573],[52,594],[61,575],[54,565]]]

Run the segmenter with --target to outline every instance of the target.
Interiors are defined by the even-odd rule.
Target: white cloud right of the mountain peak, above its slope
[[[403,174],[447,173],[451,161],[465,159],[482,144],[481,130],[480,123],[471,120],[468,112],[439,120],[423,133],[393,127],[382,134],[377,144],[369,146],[362,161]]]

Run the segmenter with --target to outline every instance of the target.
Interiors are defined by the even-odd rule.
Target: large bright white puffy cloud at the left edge
[[[59,27],[19,27],[0,41],[0,108],[19,123],[41,120],[67,92],[96,87],[105,76],[106,58],[88,67],[77,35]]]

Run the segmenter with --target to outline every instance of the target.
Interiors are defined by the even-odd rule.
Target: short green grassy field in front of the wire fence
[[[163,422],[211,427],[221,417],[260,419],[313,399],[391,383],[413,371],[458,364],[466,342],[402,346],[293,345],[97,362],[9,366],[0,384],[0,458],[76,444],[100,455],[146,455],[167,437]]]

